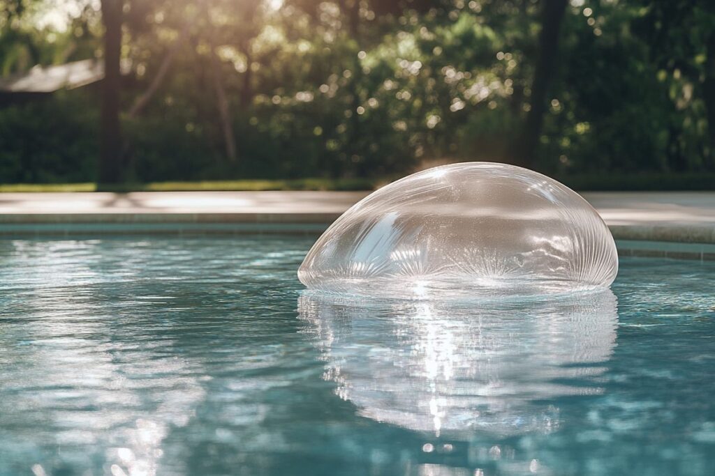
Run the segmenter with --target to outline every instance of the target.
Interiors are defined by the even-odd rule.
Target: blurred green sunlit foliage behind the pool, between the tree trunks
[[[3,5],[2,74],[101,55],[97,1]],[[530,108],[540,7],[125,0],[124,110],[169,68],[141,113],[123,118],[127,177],[375,178],[512,161]],[[213,55],[236,161],[225,156]],[[571,0],[557,64],[533,168],[606,182],[611,173],[715,171],[713,2]],[[82,88],[1,108],[0,182],[91,181],[98,103]]]

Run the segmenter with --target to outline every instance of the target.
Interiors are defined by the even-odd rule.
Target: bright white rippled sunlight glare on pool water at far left
[[[0,436],[9,427],[7,436],[21,435],[29,453],[52,441],[65,466],[87,460],[78,447],[107,445],[112,463],[104,469],[112,475],[156,474],[164,438],[187,424],[205,391],[197,365],[172,355],[174,338],[137,333],[142,324],[157,331],[141,322],[142,309],[172,301],[122,295],[132,278],[142,280],[143,243],[122,250],[111,274],[102,272],[108,263],[99,240],[13,245],[6,262],[16,288],[3,302],[12,313],[0,315]],[[39,463],[32,471],[45,474]]]

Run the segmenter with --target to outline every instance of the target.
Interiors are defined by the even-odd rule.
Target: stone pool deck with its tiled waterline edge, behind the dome
[[[0,235],[318,233],[367,193],[0,193]],[[621,253],[715,259],[715,192],[583,196]]]

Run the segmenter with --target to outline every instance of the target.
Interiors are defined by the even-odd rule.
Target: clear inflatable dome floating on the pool
[[[618,255],[578,193],[526,168],[468,162],[390,183],[340,216],[298,270],[307,288],[395,298],[606,288]]]

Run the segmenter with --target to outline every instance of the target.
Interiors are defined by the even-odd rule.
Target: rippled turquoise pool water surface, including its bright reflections
[[[313,240],[0,240],[0,475],[715,474],[715,263],[356,301]]]

